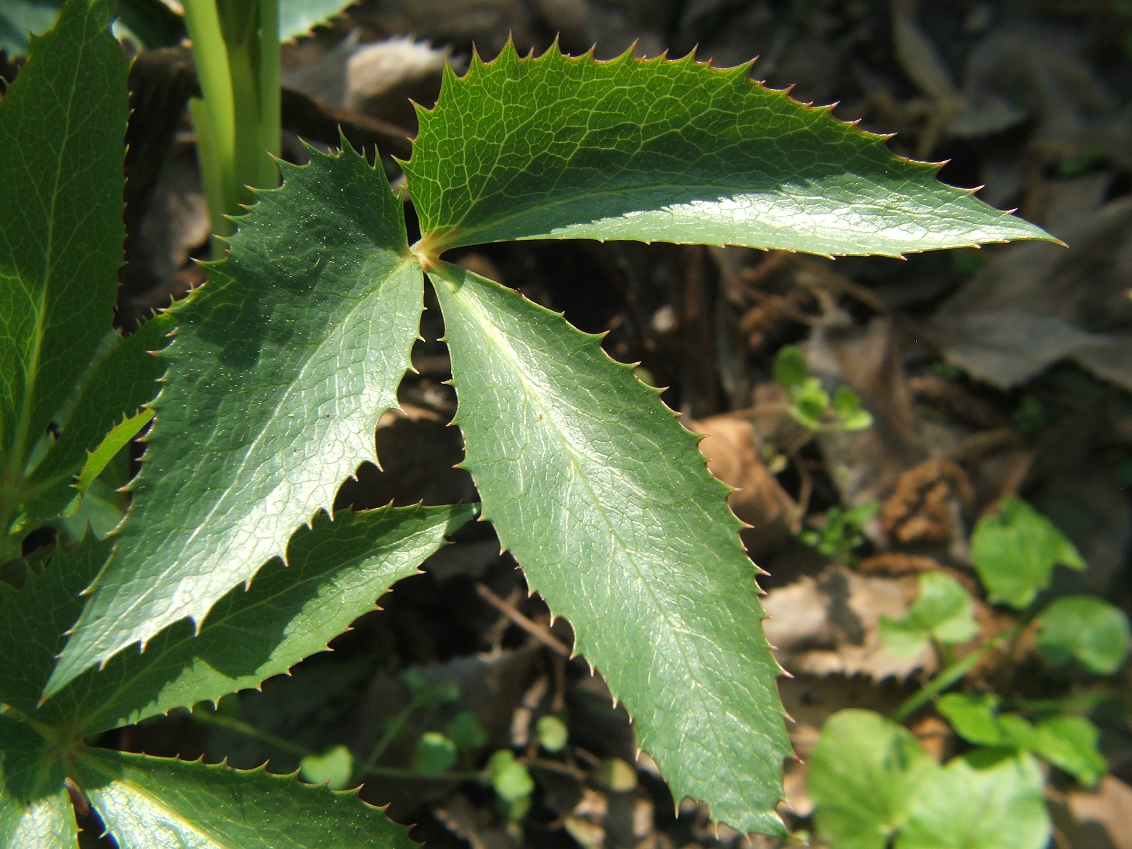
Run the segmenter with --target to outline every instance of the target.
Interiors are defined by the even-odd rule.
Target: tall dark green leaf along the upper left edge
[[[127,63],[110,11],[70,0],[0,102],[0,532],[113,316]]]

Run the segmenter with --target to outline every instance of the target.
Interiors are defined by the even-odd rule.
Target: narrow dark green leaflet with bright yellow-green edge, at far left
[[[173,317],[164,314],[128,338],[117,331],[104,336],[66,417],[58,417],[62,432],[28,473],[26,507],[34,517],[32,528],[54,518],[76,495],[89,489],[106,463],[153,418],[152,410],[142,408],[157,394],[156,381],[165,371],[165,362],[153,352],[168,344],[172,329]]]

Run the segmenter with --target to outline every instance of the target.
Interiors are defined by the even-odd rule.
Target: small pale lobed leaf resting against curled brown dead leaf
[[[938,572],[919,576],[919,598],[900,619],[881,617],[881,638],[893,654],[910,658],[928,641],[966,643],[978,634],[971,597],[955,578]]]

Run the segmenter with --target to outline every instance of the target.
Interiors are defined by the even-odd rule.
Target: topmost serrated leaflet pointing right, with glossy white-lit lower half
[[[508,42],[446,71],[404,164],[423,243],[633,239],[883,254],[1040,229],[838,121],[692,55],[608,62]]]

